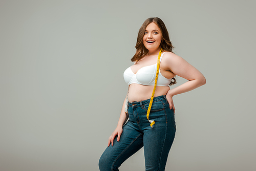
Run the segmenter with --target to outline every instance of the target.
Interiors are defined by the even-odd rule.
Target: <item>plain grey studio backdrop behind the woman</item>
[[[166,170],[255,170],[254,8],[248,0],[1,0],[0,170],[98,170],[126,95],[123,71],[152,16],[207,79],[174,97]],[[144,170],[143,149],[120,170]]]

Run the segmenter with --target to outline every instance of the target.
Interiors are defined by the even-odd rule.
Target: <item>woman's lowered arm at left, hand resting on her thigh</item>
[[[109,142],[108,142],[108,146],[110,146],[110,142],[111,142],[111,145],[113,146],[113,141],[114,141],[114,138],[117,136],[117,141],[119,142],[120,140],[120,136],[123,132],[123,124],[127,121],[128,119],[128,114],[126,114],[124,112],[124,109],[125,109],[125,103],[126,103],[126,98],[127,98],[127,95],[123,101],[123,106],[122,106],[122,110],[121,110],[121,114],[120,114],[120,117],[119,117],[119,121],[117,123],[117,127],[115,129],[115,131],[112,133],[112,135],[110,136],[109,138]]]

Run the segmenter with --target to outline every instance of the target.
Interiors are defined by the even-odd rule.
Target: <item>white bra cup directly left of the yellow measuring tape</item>
[[[152,73],[152,71],[154,71]],[[137,74],[136,79],[139,83],[148,85],[155,81],[156,77],[156,65],[146,66],[141,68]]]

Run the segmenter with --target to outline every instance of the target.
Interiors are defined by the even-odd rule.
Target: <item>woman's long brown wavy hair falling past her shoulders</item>
[[[163,23],[163,21],[160,18],[151,17],[151,18],[147,18],[145,20],[145,22],[142,24],[142,26],[140,27],[138,37],[137,37],[137,43],[135,46],[136,53],[131,59],[133,62],[142,59],[143,57],[145,57],[148,54],[148,50],[145,48],[145,46],[143,44],[143,36],[145,34],[147,25],[149,25],[151,23],[155,23],[160,28],[160,31],[162,33],[162,41],[160,44],[160,49],[162,49],[162,51],[164,51],[164,52],[174,53],[173,52],[174,46],[172,45],[172,42],[170,42],[169,33],[165,27],[165,24]],[[169,86],[172,86],[175,83],[176,83],[176,79],[172,78],[170,80]]]

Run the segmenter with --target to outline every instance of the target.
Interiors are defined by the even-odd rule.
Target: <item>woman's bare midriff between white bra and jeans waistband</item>
[[[134,102],[150,99],[153,89],[154,86],[143,86],[141,84],[133,83],[129,87],[128,100],[129,102]],[[170,88],[168,86],[157,86],[154,97],[166,95],[169,90]]]

